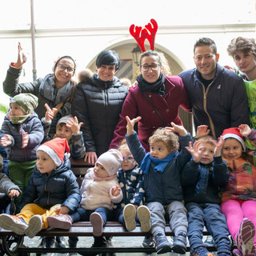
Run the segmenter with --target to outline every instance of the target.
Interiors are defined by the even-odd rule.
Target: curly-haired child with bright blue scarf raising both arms
[[[185,149],[192,140],[183,126],[158,128],[149,138],[150,152],[142,147],[134,124],[141,118],[127,120],[126,142],[134,159],[141,166],[144,178],[146,206],[151,214],[151,232],[158,254],[174,251],[186,254],[187,218],[183,202],[180,174],[191,155]],[[178,136],[174,133],[179,134]],[[181,151],[178,153],[179,142]],[[170,218],[170,228],[174,231],[174,243],[170,245],[165,235],[166,219]]]

